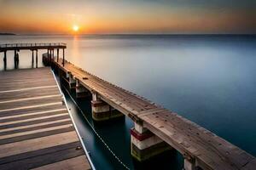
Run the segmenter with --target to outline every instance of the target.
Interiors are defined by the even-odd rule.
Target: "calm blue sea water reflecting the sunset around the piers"
[[[7,42],[67,42],[66,57],[73,64],[176,111],[256,156],[256,37],[0,37],[0,43]],[[14,54],[8,55],[8,68],[13,69]],[[31,67],[31,56],[31,52],[20,52],[20,68]],[[3,54],[0,61],[3,69]],[[84,116],[68,95],[67,101],[96,168],[123,167],[84,116],[128,167],[137,168],[130,156],[129,129],[133,123],[129,118],[93,125],[88,101],[78,102]],[[166,168],[182,167],[181,156],[165,157],[160,161]]]

